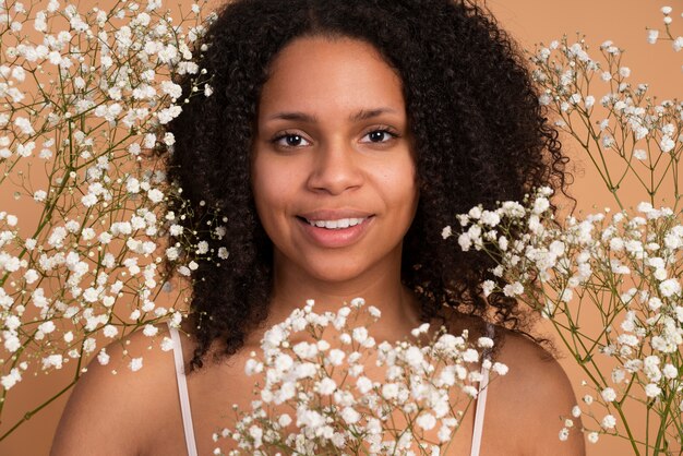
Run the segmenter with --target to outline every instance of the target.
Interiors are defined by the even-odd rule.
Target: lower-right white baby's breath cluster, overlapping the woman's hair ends
[[[610,218],[608,211],[583,220],[568,217],[561,227],[553,220],[550,193],[539,189],[526,205],[505,202],[494,211],[475,207],[458,216],[460,247],[484,250],[498,262],[483,295],[515,297],[571,328],[571,337],[589,347],[575,352],[577,359],[596,362],[597,353],[616,359],[611,386],[594,385],[608,409],[627,395],[655,401],[660,411],[672,404],[671,413],[682,412],[681,213],[640,203],[635,216],[620,212]],[[587,303],[604,321],[601,334],[578,332]],[[609,415],[601,432],[614,427]]]

